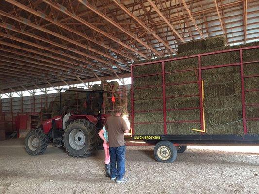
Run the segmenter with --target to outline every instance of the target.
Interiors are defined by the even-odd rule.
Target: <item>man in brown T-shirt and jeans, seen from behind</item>
[[[115,180],[116,178],[117,183],[128,181],[128,179],[123,178],[123,176],[125,174],[126,152],[124,133],[128,133],[129,129],[125,120],[121,117],[122,113],[123,108],[121,106],[117,106],[115,108],[115,115],[108,117],[105,125],[109,137],[111,180]]]

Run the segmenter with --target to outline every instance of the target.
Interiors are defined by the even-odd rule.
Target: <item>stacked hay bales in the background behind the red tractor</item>
[[[74,89],[83,89],[83,88],[74,88]],[[125,102],[126,99],[123,99],[123,97],[120,96],[118,93],[119,84],[117,81],[102,81],[100,85],[93,85],[91,89],[94,90],[105,90],[107,92],[104,93],[104,106],[102,106],[102,110],[106,114],[112,114],[115,106],[121,105],[126,107]],[[90,113],[97,115],[98,114],[98,100],[99,100],[99,94],[98,93],[91,93],[90,96],[90,105],[88,105],[88,109],[85,110],[83,104],[86,101],[87,94],[85,92],[75,92],[75,91],[65,91],[62,92],[62,102],[61,102],[61,113],[66,114],[70,111],[74,111],[74,113],[78,114],[85,114]],[[115,102],[113,103],[112,96],[115,97]],[[59,113],[59,94],[54,98],[53,102],[49,104],[48,108],[43,108],[41,110],[41,118],[42,120],[47,120],[52,118],[53,116],[60,115]],[[39,123],[41,124],[41,118],[39,117]]]

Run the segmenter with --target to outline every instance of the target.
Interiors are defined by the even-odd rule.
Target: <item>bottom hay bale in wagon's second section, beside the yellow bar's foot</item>
[[[169,135],[199,135],[199,132],[192,129],[201,129],[198,123],[168,123],[166,126]]]

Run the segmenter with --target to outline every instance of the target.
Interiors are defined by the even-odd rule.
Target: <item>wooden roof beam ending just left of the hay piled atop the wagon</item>
[[[144,22],[142,22],[137,16],[131,13],[119,0],[113,0],[116,5],[118,5],[124,12],[126,12],[129,16],[131,16],[135,21],[138,22],[146,31],[151,33],[159,42],[161,42],[166,48],[168,48],[171,52],[176,53],[174,49],[172,49],[167,42],[161,39],[155,31],[151,30]]]

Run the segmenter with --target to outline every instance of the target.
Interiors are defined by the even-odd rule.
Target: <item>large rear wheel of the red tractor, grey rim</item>
[[[73,157],[90,156],[96,147],[97,129],[86,119],[69,123],[63,135],[66,152]]]

